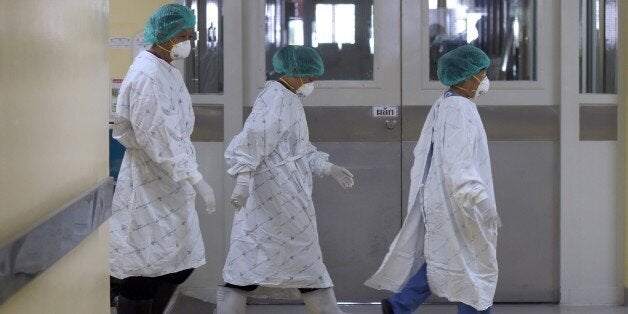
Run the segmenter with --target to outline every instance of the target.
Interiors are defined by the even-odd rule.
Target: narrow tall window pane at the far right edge
[[[580,1],[580,92],[617,93],[617,0]]]

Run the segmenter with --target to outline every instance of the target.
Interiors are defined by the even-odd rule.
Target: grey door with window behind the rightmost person
[[[473,101],[489,140],[504,224],[495,301],[558,302],[559,62],[556,32],[543,31],[558,27],[557,3],[410,0],[402,12],[402,199],[427,113],[447,89],[436,75],[438,58],[462,45],[481,48],[491,60],[491,86]]]

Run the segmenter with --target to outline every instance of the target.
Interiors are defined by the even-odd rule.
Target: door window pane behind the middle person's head
[[[314,47],[322,80],[373,79],[373,0],[266,0],[265,12],[268,79],[278,76],[272,57],[285,45]]]

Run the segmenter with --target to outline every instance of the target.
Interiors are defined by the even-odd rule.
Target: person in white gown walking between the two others
[[[217,313],[244,313],[258,286],[298,288],[311,313],[342,313],[318,241],[312,175],[331,175],[343,188],[353,175],[310,143],[300,100],[323,74],[323,60],[311,47],[286,46],[273,67],[281,77],[266,83],[225,152],[237,177],[236,214]]]

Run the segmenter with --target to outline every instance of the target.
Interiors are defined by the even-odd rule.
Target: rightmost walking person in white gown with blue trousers
[[[384,313],[413,313],[432,293],[458,313],[491,313],[501,226],[482,120],[471,101],[489,89],[488,56],[458,47],[438,60],[449,89],[432,106],[414,149],[408,214],[366,285],[395,292]]]

